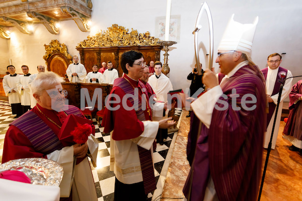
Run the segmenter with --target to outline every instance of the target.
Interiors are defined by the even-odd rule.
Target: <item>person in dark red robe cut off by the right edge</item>
[[[291,151],[302,154],[302,80],[295,83],[289,93],[289,115],[285,125],[283,138],[292,143]]]

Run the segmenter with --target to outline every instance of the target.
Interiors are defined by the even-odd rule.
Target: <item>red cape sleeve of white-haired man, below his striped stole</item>
[[[19,158],[41,157],[47,158],[46,155],[36,152],[23,132],[11,125],[5,136],[2,163]]]

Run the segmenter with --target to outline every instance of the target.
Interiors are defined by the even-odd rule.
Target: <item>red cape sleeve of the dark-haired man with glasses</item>
[[[140,136],[144,130],[143,123],[137,119],[134,109],[126,110],[122,106],[122,99],[125,92],[120,87],[115,86],[110,94],[118,96],[119,101],[113,96],[107,100],[102,121],[104,132],[109,133],[113,130],[113,140],[129,140]],[[118,103],[109,104],[109,100],[116,100]],[[114,110],[109,110],[107,104]],[[132,107],[132,104],[128,99],[126,100],[126,104],[129,108]]]

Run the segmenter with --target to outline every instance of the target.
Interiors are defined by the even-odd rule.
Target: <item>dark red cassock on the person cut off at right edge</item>
[[[289,115],[283,133],[302,140],[302,105],[297,101],[302,96],[302,80],[292,86],[289,93]],[[297,101],[296,104],[294,104]]]

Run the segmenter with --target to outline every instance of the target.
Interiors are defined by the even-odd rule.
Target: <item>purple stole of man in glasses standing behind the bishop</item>
[[[266,81],[266,77],[267,77],[267,71],[268,71],[268,67],[261,70],[261,72],[264,75],[265,81]],[[280,85],[282,84],[282,82],[284,81],[286,76],[287,76],[287,69],[282,68],[281,66],[279,66],[278,74],[277,74],[276,81],[275,81],[275,86],[274,86],[274,89],[273,89],[273,92],[272,92],[271,96],[275,95],[279,92]],[[267,119],[266,119],[266,128],[269,125],[269,122],[270,122],[270,120],[273,116],[275,108],[276,108],[276,104],[274,104],[273,102],[268,103],[268,114],[267,114]],[[278,112],[278,111],[276,111],[276,112]]]

